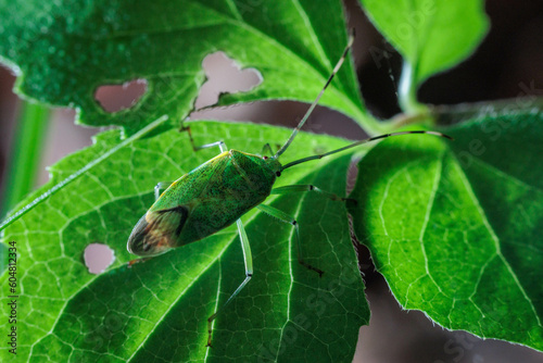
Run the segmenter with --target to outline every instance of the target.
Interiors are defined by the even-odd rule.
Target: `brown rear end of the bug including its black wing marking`
[[[182,230],[189,211],[184,205],[159,211],[149,211],[134,227],[128,238],[128,251],[153,256],[175,247],[175,239]]]

